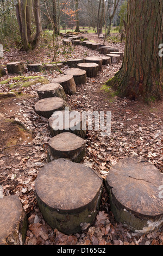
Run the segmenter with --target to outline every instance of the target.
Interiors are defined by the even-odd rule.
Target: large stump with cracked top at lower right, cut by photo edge
[[[115,164],[106,188],[116,220],[141,234],[159,228],[163,224],[162,184],[160,171],[142,157],[127,157]]]

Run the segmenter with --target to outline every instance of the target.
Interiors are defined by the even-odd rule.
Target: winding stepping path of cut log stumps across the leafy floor
[[[67,37],[66,44],[68,41],[78,44],[78,36],[62,36]],[[77,85],[85,83],[86,77],[95,77],[102,65],[120,63],[123,59],[123,52],[116,48],[90,41],[81,41],[81,45],[104,56],[68,60],[64,75],[37,89],[39,101],[34,106],[35,111],[47,118],[52,136],[48,142],[48,163],[40,170],[35,182],[37,203],[52,228],[74,234],[82,231],[84,223],[91,225],[95,221],[105,186],[115,220],[136,233],[148,233],[163,224],[163,204],[159,197],[163,178],[160,171],[146,159],[125,157],[111,168],[103,184],[95,170],[81,163],[86,150],[86,127],[82,114],[72,124],[74,112],[67,105],[66,94],[73,96]],[[28,64],[27,68],[40,72],[42,64]],[[46,65],[47,70],[55,68],[52,63]],[[10,74],[21,74],[24,64],[8,63],[7,69]],[[74,79],[76,71],[78,76],[84,75],[83,81]],[[68,118],[62,127],[57,127],[58,117],[62,120]],[[6,196],[0,198],[0,206],[0,244],[23,244],[27,217],[20,200],[16,196]]]

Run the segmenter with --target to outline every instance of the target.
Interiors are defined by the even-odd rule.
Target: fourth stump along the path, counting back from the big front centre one
[[[50,97],[37,101],[35,111],[42,117],[50,118],[55,111],[64,110],[68,107],[66,101],[60,97]]]

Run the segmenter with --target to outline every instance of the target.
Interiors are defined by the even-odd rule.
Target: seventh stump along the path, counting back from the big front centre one
[[[78,84],[85,84],[86,83],[86,71],[78,68],[67,69],[64,71],[65,75],[72,75],[76,86]]]

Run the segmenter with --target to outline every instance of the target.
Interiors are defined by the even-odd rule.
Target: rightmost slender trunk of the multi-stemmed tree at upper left
[[[33,0],[33,11],[34,11],[34,17],[35,17],[35,24],[36,24],[36,34],[32,42],[32,46],[33,48],[35,48],[39,44],[40,34],[41,34],[40,0]]]

